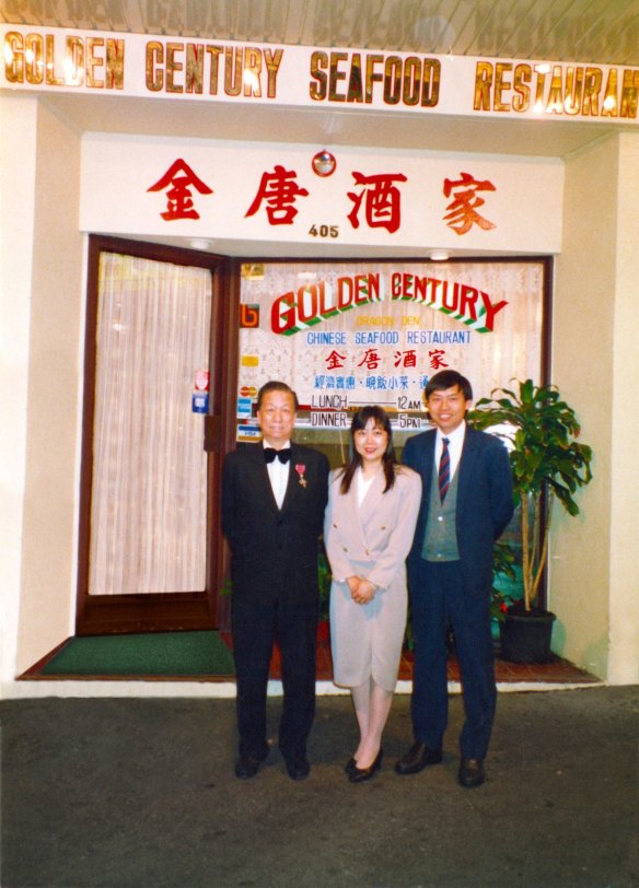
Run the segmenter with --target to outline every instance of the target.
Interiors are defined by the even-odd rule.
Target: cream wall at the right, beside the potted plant
[[[639,137],[566,164],[553,382],[594,451],[581,514],[557,510],[550,607],[557,653],[613,683],[639,681]]]

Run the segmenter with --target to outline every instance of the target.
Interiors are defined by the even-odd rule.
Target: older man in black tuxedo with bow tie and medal
[[[260,444],[228,454],[222,529],[231,547],[233,654],[240,755],[235,774],[254,776],[268,755],[266,694],[274,642],[281,653],[279,747],[293,780],[307,776],[315,715],[317,538],[328,495],[328,460],[291,443],[298,398],[268,382],[257,396]]]

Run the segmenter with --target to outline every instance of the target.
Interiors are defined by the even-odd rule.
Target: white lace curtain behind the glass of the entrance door
[[[207,459],[195,373],[208,369],[207,269],[103,253],[90,594],[205,588]]]

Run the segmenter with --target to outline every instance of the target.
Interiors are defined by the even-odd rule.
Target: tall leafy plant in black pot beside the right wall
[[[520,663],[550,656],[555,615],[538,606],[548,560],[553,507],[579,514],[578,488],[592,479],[592,449],[579,442],[574,410],[554,385],[516,382],[516,390],[496,388],[477,401],[470,421],[490,429],[509,447],[515,498],[520,505],[523,597],[508,608],[501,626],[502,656]]]

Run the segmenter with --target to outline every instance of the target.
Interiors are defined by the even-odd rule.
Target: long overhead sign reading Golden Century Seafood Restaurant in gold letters
[[[639,122],[639,69],[2,25],[0,89]]]

